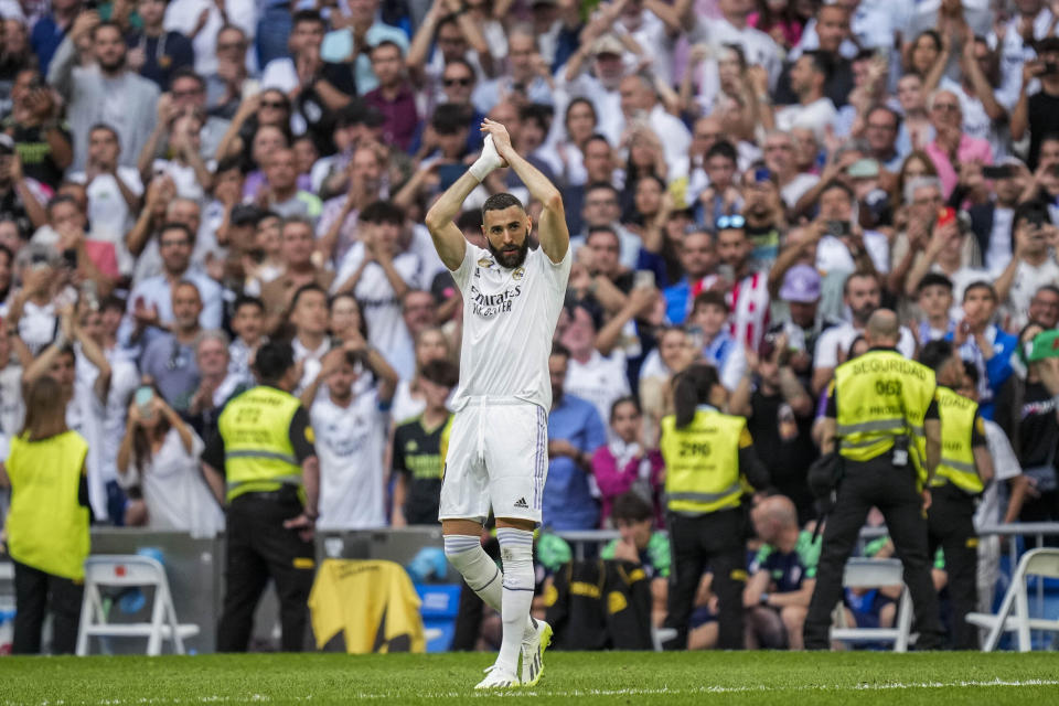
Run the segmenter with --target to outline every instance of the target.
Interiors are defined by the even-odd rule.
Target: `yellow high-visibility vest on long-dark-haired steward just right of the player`
[[[683,429],[676,417],[662,418],[659,446],[665,459],[666,506],[673,512],[706,514],[738,507],[739,449],[752,443],[742,417],[699,408]]]

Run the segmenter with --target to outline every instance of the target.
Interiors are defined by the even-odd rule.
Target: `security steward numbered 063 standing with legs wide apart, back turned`
[[[846,559],[868,511],[882,511],[905,584],[912,596],[917,646],[940,646],[938,596],[930,577],[927,516],[930,482],[941,454],[941,422],[934,403],[934,372],[895,350],[897,314],[879,309],[868,319],[870,350],[835,370],[823,420],[821,450],[837,445],[844,475],[824,526],[816,588],[805,618],[806,650],[830,646],[831,613],[842,600]],[[924,459],[917,440],[923,437]]]

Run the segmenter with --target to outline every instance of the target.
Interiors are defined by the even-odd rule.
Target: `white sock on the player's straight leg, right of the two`
[[[522,638],[531,624],[533,607],[533,533],[514,527],[496,531],[500,555],[503,558],[503,598],[500,610],[504,623],[504,639],[500,644],[496,664],[515,674],[518,670],[518,653]]]

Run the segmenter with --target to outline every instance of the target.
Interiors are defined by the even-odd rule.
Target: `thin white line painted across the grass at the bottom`
[[[434,694],[420,694],[419,698],[495,698],[500,697],[520,697],[520,696],[557,696],[565,698],[577,698],[579,696],[682,696],[692,694],[747,694],[747,693],[772,693],[772,692],[885,692],[895,689],[912,688],[983,688],[983,687],[1027,687],[1027,686],[1059,686],[1059,680],[992,680],[992,681],[961,681],[961,682],[889,682],[882,684],[820,684],[802,686],[767,686],[759,684],[757,686],[698,686],[694,688],[670,688],[662,686],[659,688],[592,688],[592,689],[568,689],[568,691],[522,691],[510,689],[499,692],[447,692]],[[397,698],[396,694],[372,694],[357,693],[355,698],[384,699]],[[308,696],[285,696],[279,700],[312,700],[312,695]],[[267,703],[274,700],[271,696],[265,694],[253,694],[249,696],[199,696],[192,698],[106,698],[98,702],[74,700],[74,699],[54,699],[39,702],[38,706],[73,706],[74,704],[104,704],[106,706],[150,706],[153,704],[188,704],[188,703],[246,703],[246,702]],[[2,702],[3,706],[25,706],[25,702]]]

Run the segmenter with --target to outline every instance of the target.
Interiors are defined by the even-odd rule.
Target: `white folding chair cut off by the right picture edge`
[[[1018,651],[1029,652],[1033,645],[1029,639],[1030,630],[1047,630],[1059,632],[1059,620],[1029,617],[1029,598],[1026,595],[1026,578],[1044,576],[1059,578],[1059,549],[1041,547],[1030,549],[1023,555],[1012,577],[1012,585],[1004,595],[1004,602],[996,614],[967,613],[967,622],[990,631],[983,652],[992,652],[1005,632],[1018,633]],[[1014,614],[1013,614],[1014,611]]]

